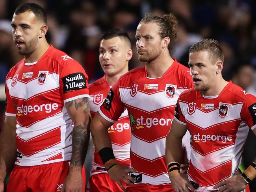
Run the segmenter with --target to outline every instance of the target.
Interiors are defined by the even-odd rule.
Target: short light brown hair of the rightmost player
[[[220,59],[224,63],[224,54],[219,42],[215,39],[203,39],[189,48],[189,54],[200,51],[208,51],[212,63]]]

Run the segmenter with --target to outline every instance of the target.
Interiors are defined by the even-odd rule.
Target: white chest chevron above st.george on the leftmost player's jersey
[[[59,74],[48,74],[46,78],[46,82],[43,85],[39,85],[37,83],[37,78],[28,83],[22,83],[20,81],[17,81],[17,84],[14,87],[12,87],[12,89],[9,89],[10,96],[27,100],[28,98],[31,98],[34,95],[46,92],[48,90],[57,89],[59,87],[59,83],[57,83],[59,82]],[[11,87],[11,81],[12,79],[6,80],[7,87]],[[33,87],[33,89],[28,89],[28,87]]]

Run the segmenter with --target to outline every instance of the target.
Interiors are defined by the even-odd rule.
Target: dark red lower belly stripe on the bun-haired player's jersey
[[[162,174],[167,174],[165,156],[150,160],[140,157],[131,151],[130,159],[132,168],[139,170],[139,173],[143,173],[150,177],[157,177]]]

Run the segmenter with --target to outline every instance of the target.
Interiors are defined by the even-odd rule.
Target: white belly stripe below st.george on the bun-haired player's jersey
[[[145,159],[156,159],[165,155],[165,139],[148,143],[131,134],[131,150]]]

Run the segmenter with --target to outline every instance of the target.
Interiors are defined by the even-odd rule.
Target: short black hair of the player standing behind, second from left
[[[121,29],[112,29],[112,30],[106,31],[105,33],[103,33],[101,35],[100,41],[102,39],[106,39],[107,40],[107,39],[112,39],[114,37],[124,38],[129,43],[129,45],[131,47],[132,43],[131,43],[131,39],[130,39],[128,33],[126,31],[124,31],[124,30],[121,30]]]

